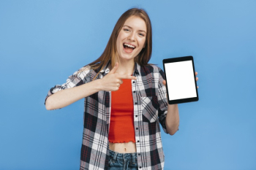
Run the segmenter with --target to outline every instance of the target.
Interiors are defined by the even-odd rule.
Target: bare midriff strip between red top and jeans
[[[119,153],[132,153],[136,152],[136,144],[134,142],[127,143],[110,143],[109,149]]]

